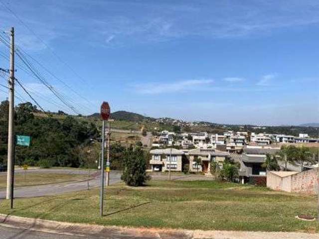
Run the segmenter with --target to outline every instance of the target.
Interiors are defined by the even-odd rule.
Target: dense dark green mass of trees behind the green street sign
[[[35,117],[36,107],[31,103],[15,108],[16,135],[29,135],[30,147],[16,146],[16,164],[79,167],[85,164],[81,152],[99,136],[93,122],[80,121],[67,116],[56,119],[51,116]],[[7,157],[8,102],[0,104],[0,164]]]

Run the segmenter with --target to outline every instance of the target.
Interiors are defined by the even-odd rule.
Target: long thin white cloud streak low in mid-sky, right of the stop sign
[[[200,80],[185,80],[174,83],[151,83],[139,84],[136,86],[136,91],[141,94],[161,94],[171,92],[186,92],[203,90],[202,87],[211,85],[214,82],[212,79]]]

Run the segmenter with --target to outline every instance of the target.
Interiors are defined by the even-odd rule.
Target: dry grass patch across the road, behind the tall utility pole
[[[73,181],[87,179],[87,175],[84,174],[66,174],[66,173],[32,173],[26,172],[14,175],[14,186],[34,186],[43,185],[49,183],[59,183],[65,181]],[[6,187],[6,174],[0,175],[0,189]]]

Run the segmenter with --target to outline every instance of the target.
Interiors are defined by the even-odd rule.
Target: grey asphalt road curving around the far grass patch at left
[[[36,170],[36,169],[34,169]],[[44,172],[43,169],[39,169]],[[66,173],[65,169],[52,169],[56,173]],[[49,171],[49,170],[47,170]],[[78,170],[69,170],[70,173],[79,173]],[[74,172],[75,171],[75,172]],[[83,172],[83,171],[82,171]],[[52,172],[51,172],[52,173]],[[85,172],[88,174],[88,171]],[[111,171],[110,173],[110,184],[118,183],[121,181],[121,171]],[[89,180],[89,187],[97,187],[100,185],[100,176],[95,176],[93,179]],[[65,182],[56,184],[47,184],[40,186],[29,186],[29,187],[19,187],[14,189],[14,198],[29,198],[38,196],[52,196],[57,194],[63,194],[68,192],[75,192],[87,189],[87,181],[77,181],[77,182]],[[5,198],[5,190],[0,190],[0,199]]]

